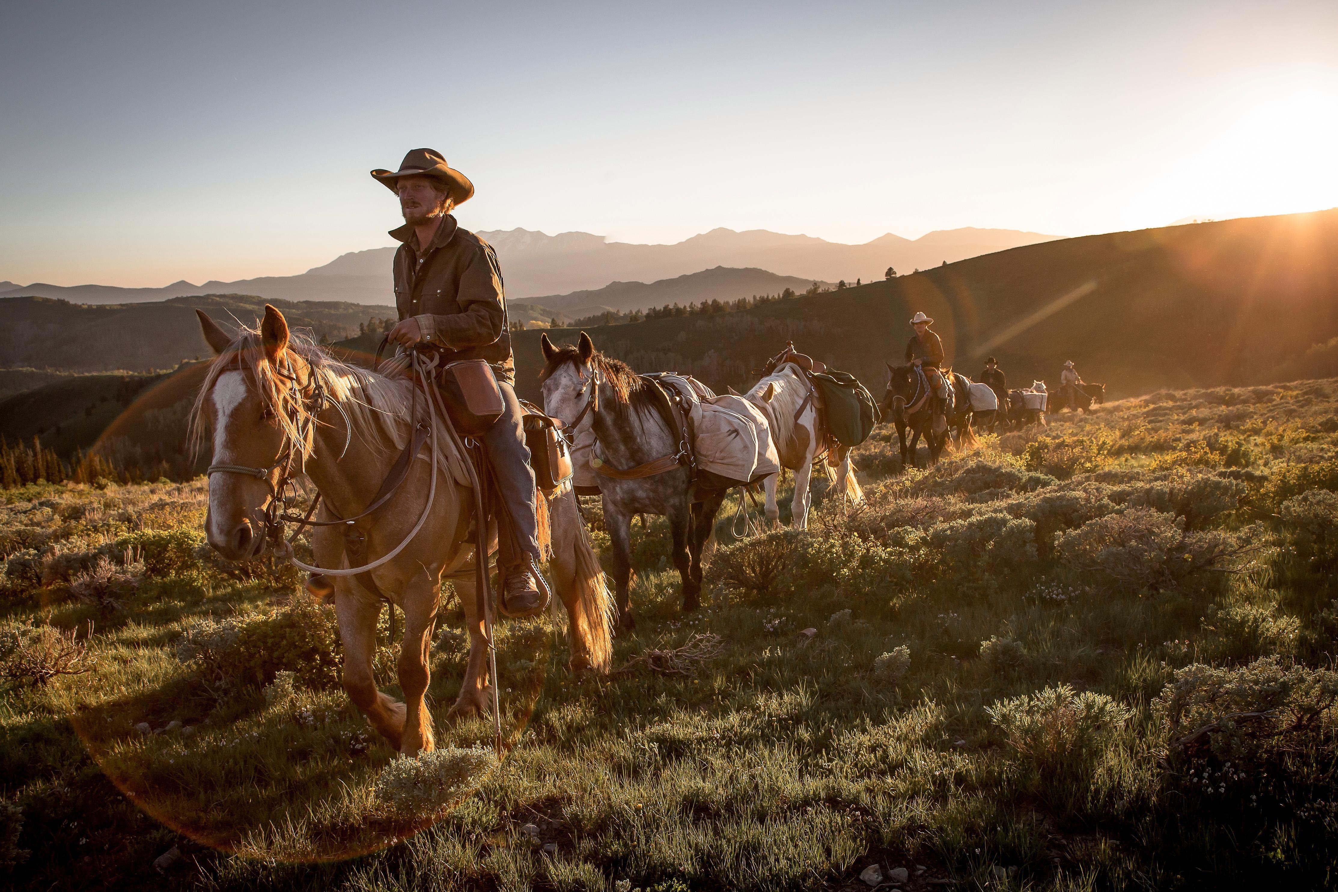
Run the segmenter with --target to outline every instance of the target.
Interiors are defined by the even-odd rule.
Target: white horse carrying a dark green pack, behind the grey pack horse
[[[812,500],[808,483],[812,479],[814,463],[822,460],[824,452],[827,460],[823,467],[828,480],[835,481],[834,492],[844,493],[852,504],[863,501],[864,493],[855,479],[850,449],[827,436],[818,412],[814,384],[799,362],[789,361],[784,356],[779,357],[779,361],[768,362],[763,368],[763,378],[744,395],[744,399],[761,409],[767,417],[780,465],[795,472],[795,497],[789,503],[791,526],[795,530],[808,528],[808,507]],[[834,443],[836,448],[832,448]],[[780,524],[780,507],[776,504],[779,481],[777,473],[763,481],[763,488],[767,491],[767,520],[773,527]]]

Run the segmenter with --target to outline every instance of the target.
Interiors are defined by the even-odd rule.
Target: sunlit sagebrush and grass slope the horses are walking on
[[[723,519],[686,618],[662,523],[634,524],[641,625],[614,665],[698,634],[719,655],[574,678],[549,618],[504,622],[519,744],[463,785],[436,774],[459,750],[401,765],[373,740],[296,574],[199,548],[203,481],[9,491],[0,869],[20,889],[772,892],[868,888],[874,864],[913,892],[1330,888],[1335,412],[1333,380],[1163,392],[876,480],[883,425],[855,456],[866,507],[819,493],[808,534],[743,542]],[[447,592],[442,748],[490,734],[440,725],[459,617]],[[59,665],[87,671],[39,679]],[[438,813],[413,789],[443,782],[463,798]]]

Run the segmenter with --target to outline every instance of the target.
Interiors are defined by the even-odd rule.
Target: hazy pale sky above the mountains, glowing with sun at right
[[[8,3],[0,280],[289,275],[468,229],[1060,235],[1338,205],[1338,3]]]

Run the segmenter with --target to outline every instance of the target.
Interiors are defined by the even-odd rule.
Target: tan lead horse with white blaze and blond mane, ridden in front
[[[198,314],[215,353],[193,413],[198,437],[205,425],[213,428],[209,544],[223,558],[246,560],[277,544],[273,539],[282,540],[282,520],[305,526],[310,515],[284,514],[289,483],[305,475],[321,497],[314,519],[329,524],[313,527],[316,564],[334,574],[355,570],[345,554],[348,524],[364,536],[371,562],[367,574],[334,575],[344,689],[400,753],[431,750],[424,694],[443,575],[456,584],[470,633],[464,682],[447,717],[491,710],[495,683],[488,677],[486,607],[467,571],[474,497],[448,421],[435,413],[435,404],[424,408],[428,401],[411,380],[333,360],[310,338],[290,333],[273,306],[265,308],[260,330],[242,329],[237,337]],[[400,483],[387,493],[393,476]],[[551,566],[571,619],[571,666],[606,671],[607,590],[575,497],[565,499],[553,510],[559,535],[553,536]],[[404,611],[397,670],[405,702],[377,690],[372,655],[381,600],[364,582]]]

